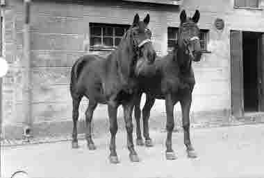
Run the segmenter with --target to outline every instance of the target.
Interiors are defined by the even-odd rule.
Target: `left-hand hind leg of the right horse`
[[[136,121],[136,133],[137,133],[137,139],[136,139],[137,145],[144,145],[142,135],[141,135],[141,129],[140,129],[140,117],[141,117],[140,100],[141,100],[141,96],[142,96],[142,94],[136,95],[135,107],[134,107],[134,115],[135,115],[135,121]]]

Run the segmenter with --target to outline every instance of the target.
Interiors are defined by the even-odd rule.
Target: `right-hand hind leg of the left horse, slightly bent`
[[[92,115],[96,107],[97,107],[97,102],[95,102],[94,100],[89,100],[88,108],[86,109],[86,112],[85,112],[85,123],[86,123],[85,138],[86,138],[89,150],[96,149],[94,142],[92,141],[92,133],[91,133]]]

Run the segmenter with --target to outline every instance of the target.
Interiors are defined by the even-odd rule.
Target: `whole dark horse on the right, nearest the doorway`
[[[201,60],[201,46],[199,42],[199,11],[190,18],[181,12],[181,26],[179,27],[179,39],[172,53],[156,59],[154,65],[149,66],[149,76],[140,76],[140,92],[135,99],[135,119],[137,125],[137,145],[143,145],[140,131],[140,98],[146,94],[146,103],[142,109],[143,132],[145,145],[152,146],[149,137],[149,114],[155,99],[165,100],[167,113],[167,159],[176,159],[172,150],[172,130],[174,129],[174,105],[179,101],[183,113],[184,143],[189,157],[197,157],[190,142],[190,105],[192,103],[192,89],[195,85],[195,76],[192,71],[192,61]]]

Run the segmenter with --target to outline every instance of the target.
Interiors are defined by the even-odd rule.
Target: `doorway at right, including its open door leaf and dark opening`
[[[231,30],[231,112],[264,111],[264,35]]]

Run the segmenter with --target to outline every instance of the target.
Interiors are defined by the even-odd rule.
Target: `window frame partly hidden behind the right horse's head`
[[[174,32],[174,33],[176,33],[176,39],[169,38],[169,28],[174,28],[174,30],[176,30]],[[174,40],[175,42],[178,40],[178,30],[179,30],[179,27],[174,27],[174,26],[168,26],[167,27],[167,51],[173,50],[173,47],[169,46],[169,40]],[[211,51],[208,51],[209,32],[210,32],[210,30],[208,30],[208,29],[200,29],[200,33],[204,33],[204,37],[205,37],[205,39],[200,39],[200,42],[201,41],[205,42],[205,48],[202,49],[202,51],[201,51],[202,53],[211,53]],[[200,37],[201,37],[201,35],[200,35]]]

